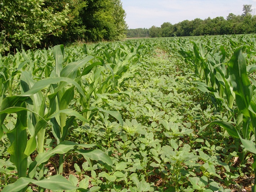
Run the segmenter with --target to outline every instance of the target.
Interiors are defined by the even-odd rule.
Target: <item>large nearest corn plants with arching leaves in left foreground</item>
[[[22,72],[20,78],[22,94],[6,97],[1,103],[0,137],[6,132],[10,140],[11,145],[8,148],[10,160],[17,167],[19,178],[13,184],[6,186],[2,191],[25,191],[29,183],[38,185],[39,191],[44,191],[44,188],[51,190],[78,189],[80,191],[86,191],[83,188],[72,186],[68,180],[60,175],[52,176],[47,180],[44,178],[45,162],[52,155],[60,154],[58,173],[61,174],[63,171],[64,154],[70,150],[82,154],[90,166],[92,166],[90,159],[101,160],[112,166],[111,159],[101,150],[75,149],[77,146],[92,148],[95,145],[83,145],[65,141],[68,129],[75,118],[88,122],[82,114],[68,109],[68,106],[74,98],[75,88],[81,96],[86,97],[86,94],[78,82],[76,82],[78,80],[76,76],[78,68],[84,66],[93,57],[88,56],[83,60],[70,63],[63,68],[64,46],[55,46],[53,53],[56,65],[49,78],[35,82],[30,72]],[[87,66],[84,71],[90,72],[97,64]],[[46,103],[48,103],[49,107],[46,106]],[[116,117],[122,124],[122,118],[118,112],[110,112],[101,108],[97,109]],[[14,129],[8,130],[4,125],[4,121],[7,114],[11,113],[17,113],[17,120]],[[47,125],[52,127],[52,133],[56,138],[57,146],[53,150],[46,152],[44,150],[44,140]],[[29,140],[28,134],[30,135]],[[38,152],[38,156],[28,165],[30,154],[35,149]],[[36,171],[38,167],[41,168],[39,173]]]

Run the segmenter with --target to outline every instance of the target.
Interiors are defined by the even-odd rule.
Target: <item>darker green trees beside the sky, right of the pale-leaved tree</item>
[[[60,11],[60,4],[68,4],[69,24],[60,38],[51,36],[52,44],[74,42],[76,40],[95,42],[101,40],[124,39],[127,25],[120,0],[47,0],[46,7]],[[61,10],[62,11],[62,10]]]

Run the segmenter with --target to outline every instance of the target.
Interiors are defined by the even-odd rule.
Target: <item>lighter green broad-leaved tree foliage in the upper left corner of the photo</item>
[[[42,0],[4,0],[0,3],[0,52],[13,48],[35,48],[48,35],[60,36],[67,25],[69,9],[64,5],[62,12],[54,14],[43,9]]]

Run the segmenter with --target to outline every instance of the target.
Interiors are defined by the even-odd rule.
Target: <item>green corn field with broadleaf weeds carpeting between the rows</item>
[[[2,192],[256,191],[256,35],[0,56]]]

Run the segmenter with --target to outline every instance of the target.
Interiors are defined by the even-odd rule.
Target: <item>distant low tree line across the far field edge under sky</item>
[[[256,32],[256,16],[252,16],[252,5],[244,5],[243,13],[230,13],[227,18],[184,20],[177,24],[165,22],[161,27],[152,26],[149,29],[128,29],[127,37],[170,37],[170,36],[202,36],[224,34],[250,34]]]

